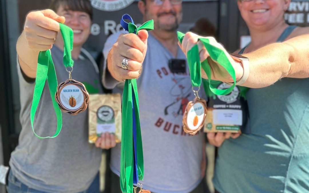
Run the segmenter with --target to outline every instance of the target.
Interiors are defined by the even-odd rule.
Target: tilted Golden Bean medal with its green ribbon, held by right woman
[[[177,36],[181,44],[184,38],[184,34],[178,31]],[[229,59],[226,57],[224,51],[220,48],[211,45],[207,38],[199,38],[198,41],[201,41],[202,44],[205,46],[207,52],[209,53],[209,57],[212,60],[217,61],[218,64],[222,65],[222,67],[226,69],[226,71],[233,78],[234,83],[230,88],[227,89],[220,90],[215,88],[213,85],[210,84],[211,71],[207,59],[205,59],[202,62],[200,61],[198,46],[194,45],[187,52],[188,65],[192,82],[192,90],[196,97],[193,99],[193,101],[190,101],[188,103],[186,110],[184,112],[182,123],[184,125],[184,131],[192,135],[197,133],[197,131],[204,126],[204,121],[207,114],[206,101],[198,96],[198,91],[200,90],[201,86],[201,67],[207,74],[210,90],[214,94],[217,95],[229,94],[234,89],[236,84],[235,70]]]

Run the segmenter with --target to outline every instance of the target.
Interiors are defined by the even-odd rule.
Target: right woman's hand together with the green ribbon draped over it
[[[210,90],[214,94],[224,95],[230,93],[234,87],[237,77],[241,77],[243,70],[240,65],[230,57],[221,44],[213,37],[201,37],[191,32],[183,34],[177,32],[180,41],[180,47],[187,55],[192,85],[201,84],[201,67],[206,73],[205,78],[220,80],[222,82],[233,82],[233,85],[227,89],[217,89],[209,84]],[[201,56],[201,58],[200,58]],[[233,64],[233,65],[232,65]],[[239,72],[238,74],[235,74]],[[203,72],[203,73],[204,73]]]

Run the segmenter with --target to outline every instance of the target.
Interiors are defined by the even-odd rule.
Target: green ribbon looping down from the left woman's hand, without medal
[[[64,41],[63,64],[65,65],[66,68],[73,67],[73,60],[71,58],[71,50],[73,49],[73,31],[70,27],[67,27],[66,25],[62,23],[59,23],[59,25],[60,25],[61,35]],[[40,98],[41,98],[42,91],[43,91],[46,80],[48,82],[50,96],[52,98],[53,107],[54,107],[56,117],[57,117],[57,130],[53,136],[40,137],[34,131],[33,120],[36,114],[37,106],[40,102]],[[57,86],[58,86],[58,83],[57,83],[56,71],[55,71],[55,67],[54,67],[54,63],[53,63],[50,50],[40,51],[39,56],[38,56],[37,68],[36,68],[36,83],[34,86],[32,106],[31,106],[31,112],[30,112],[32,131],[35,134],[35,136],[37,136],[40,139],[54,138],[61,131],[62,114],[58,106],[58,103],[55,100]]]

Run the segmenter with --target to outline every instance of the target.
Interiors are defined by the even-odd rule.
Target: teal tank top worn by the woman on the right
[[[281,78],[248,90],[246,97],[250,133],[219,148],[215,188],[220,193],[309,192],[309,78]]]

